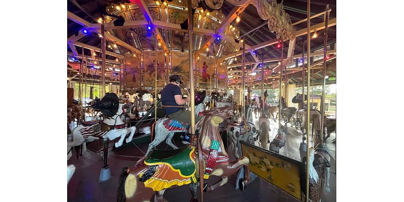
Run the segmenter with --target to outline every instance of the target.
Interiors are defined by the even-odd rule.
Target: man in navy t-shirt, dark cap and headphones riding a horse
[[[162,107],[166,115],[170,118],[190,124],[191,112],[185,110],[183,106],[187,102],[189,102],[190,97],[182,98],[181,93],[181,79],[178,75],[172,75],[170,77],[170,83],[164,87],[161,91],[161,101]],[[200,120],[200,117],[195,116],[195,124]],[[190,127],[188,129],[188,133],[191,133]],[[188,135],[184,135],[182,139],[182,143],[189,144],[190,137]]]

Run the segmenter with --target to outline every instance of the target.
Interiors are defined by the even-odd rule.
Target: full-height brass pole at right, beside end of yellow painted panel
[[[306,201],[309,201],[309,170],[310,162],[309,159],[309,134],[310,134],[310,0],[307,1],[307,152],[306,152],[306,159],[307,159],[307,168],[306,168]],[[303,92],[303,94],[305,94]]]

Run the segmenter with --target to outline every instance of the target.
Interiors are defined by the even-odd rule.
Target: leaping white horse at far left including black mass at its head
[[[135,134],[136,127],[127,127],[127,124],[123,121],[123,106],[119,103],[118,96],[115,93],[107,93],[100,104],[96,104],[93,107],[101,109],[104,120],[102,121],[88,121],[82,122],[72,131],[72,141],[68,141],[69,147],[82,145],[82,153],[86,150],[86,142],[91,142],[97,139],[110,139],[114,140],[119,138],[115,142],[115,147],[119,147],[123,144],[123,141],[127,134],[126,143],[132,141]]]

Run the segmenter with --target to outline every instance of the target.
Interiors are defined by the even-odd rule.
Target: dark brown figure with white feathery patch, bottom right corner
[[[331,164],[328,151],[325,151],[318,146],[309,149],[309,159],[312,162],[309,166],[309,201],[320,202],[324,187],[326,191],[330,191],[329,169]],[[307,157],[303,157],[302,162],[304,162],[306,170]],[[304,184],[306,185],[306,183]],[[306,190],[305,187],[302,188],[302,190]]]

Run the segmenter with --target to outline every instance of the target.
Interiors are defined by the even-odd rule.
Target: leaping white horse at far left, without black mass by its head
[[[130,134],[126,138],[126,143],[132,141],[135,134],[136,127],[127,127],[126,123],[122,120],[124,104],[119,104],[118,112],[113,117],[105,117],[103,121],[90,121],[82,122],[72,131],[72,141],[67,142],[68,152],[73,146],[82,145],[82,153],[86,151],[86,142],[91,142],[97,139],[108,138],[114,140],[118,137],[120,139],[115,142],[115,147],[119,147],[123,144],[123,141],[127,134]],[[70,155],[71,157],[71,155]],[[69,154],[68,154],[69,160]]]

